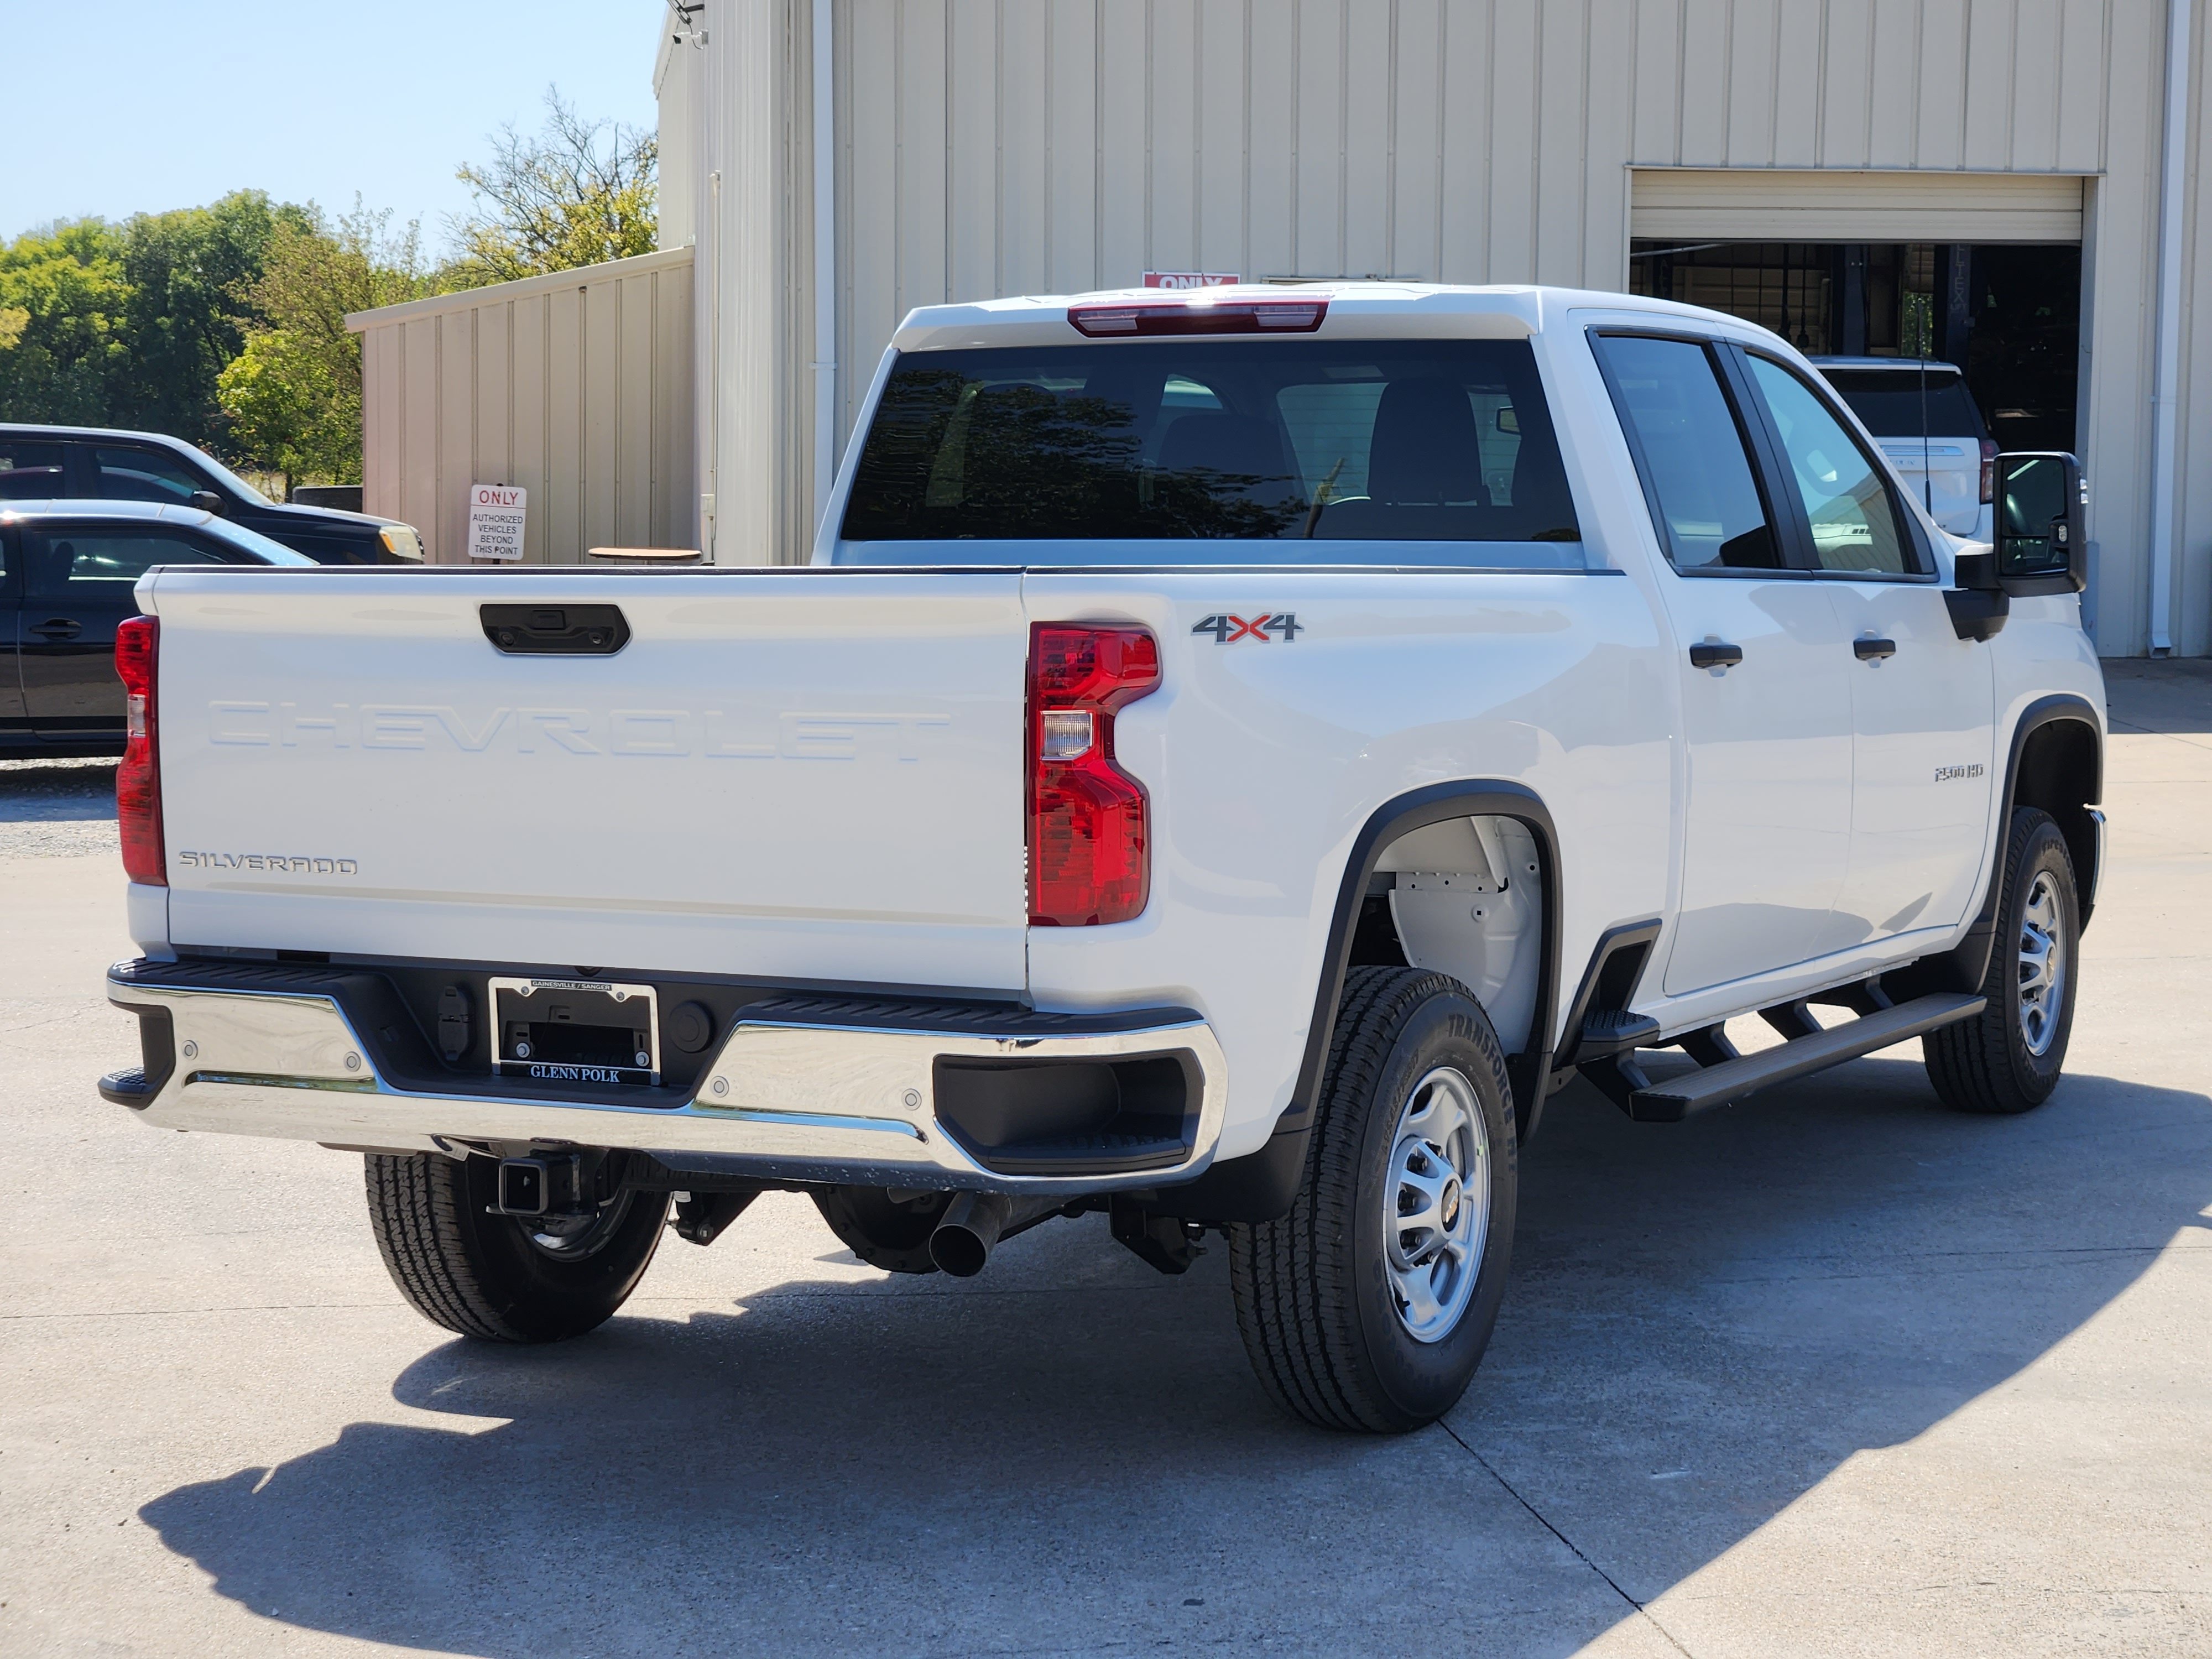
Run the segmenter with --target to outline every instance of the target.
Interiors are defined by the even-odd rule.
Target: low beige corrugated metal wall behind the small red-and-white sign
[[[692,252],[358,312],[363,507],[467,557],[469,487],[529,491],[526,562],[697,546]]]

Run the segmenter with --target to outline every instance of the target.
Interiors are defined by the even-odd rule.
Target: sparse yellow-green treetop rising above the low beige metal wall
[[[460,252],[440,285],[480,288],[650,254],[659,239],[657,168],[653,133],[586,122],[549,86],[544,131],[522,137],[509,124],[487,166],[456,173],[478,210],[453,223]]]

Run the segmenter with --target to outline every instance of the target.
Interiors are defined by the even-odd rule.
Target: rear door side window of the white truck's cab
[[[1781,538],[1705,347],[1641,334],[1606,334],[1599,345],[1674,568],[1781,568]]]

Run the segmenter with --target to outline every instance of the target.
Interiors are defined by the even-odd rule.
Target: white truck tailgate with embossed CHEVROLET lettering
[[[1024,982],[1020,575],[164,571],[170,940]],[[478,613],[617,606],[613,655]]]

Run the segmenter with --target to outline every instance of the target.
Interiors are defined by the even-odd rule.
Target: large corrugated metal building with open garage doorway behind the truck
[[[1807,349],[1960,361],[2002,442],[2084,456],[2101,650],[2203,655],[2203,35],[2190,0],[672,7],[681,531],[719,562],[805,557],[914,305],[1146,270],[1632,288]]]

